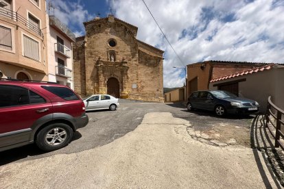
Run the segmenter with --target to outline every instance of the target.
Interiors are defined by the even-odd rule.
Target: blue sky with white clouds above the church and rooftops
[[[284,63],[284,0],[50,0],[76,36],[84,21],[112,12],[138,27],[137,38],[165,51],[164,87],[182,86],[187,64],[205,60]],[[53,12],[53,10],[51,10]]]

